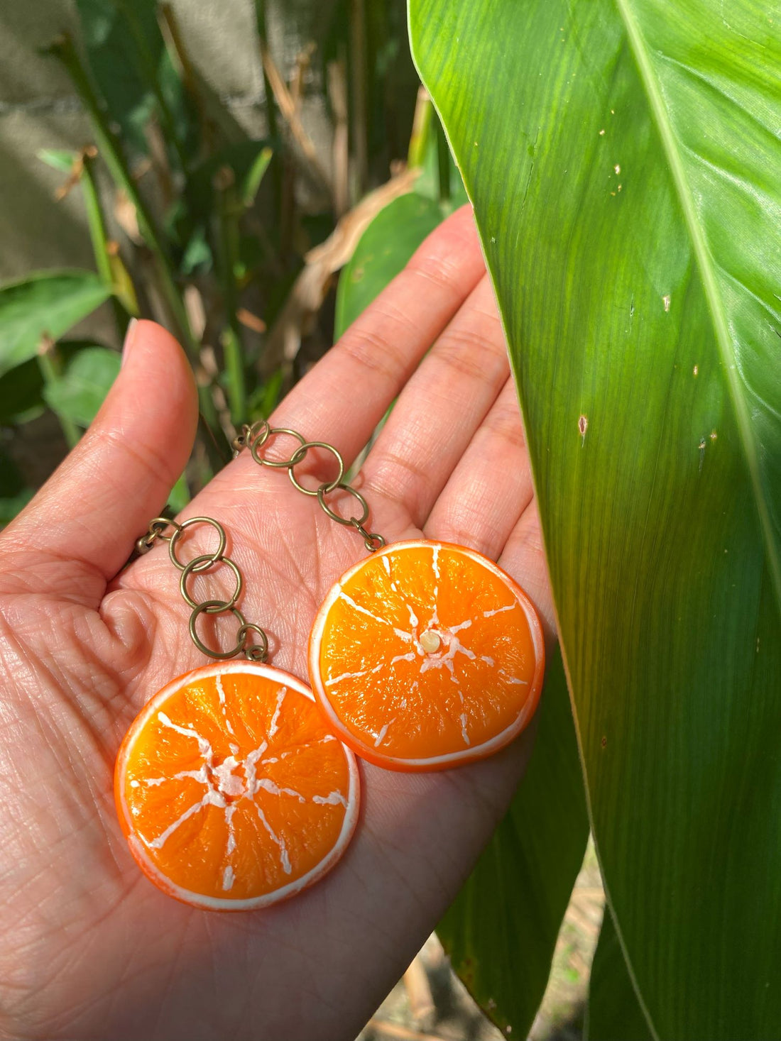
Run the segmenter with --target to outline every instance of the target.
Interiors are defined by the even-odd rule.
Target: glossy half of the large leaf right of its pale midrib
[[[690,64],[698,57],[691,40],[699,28],[690,5],[676,5],[672,31],[673,5],[666,0],[616,0],[616,5],[649,96],[703,281],[781,605],[781,498],[774,494],[774,482],[777,488],[781,480],[781,456],[771,453],[760,460],[759,452],[763,435],[770,435],[775,443],[781,438],[778,401],[775,405],[771,401],[778,398],[774,385],[777,374],[762,363],[763,356],[777,348],[774,335],[781,335],[776,331],[781,328],[781,308],[771,274],[774,270],[778,273],[779,265],[773,262],[776,251],[771,236],[756,221],[760,213],[779,205],[778,186],[770,183],[769,175],[781,161],[781,146],[773,127],[764,122],[770,123],[774,116],[777,120],[778,112],[774,113],[767,96],[757,96],[751,86],[755,69],[766,68],[767,56],[758,53],[755,42],[746,35],[742,40],[749,48],[744,45],[744,53],[735,54],[734,34],[725,34],[723,18],[713,19],[711,46],[713,36],[721,36],[719,44],[730,58],[721,70],[708,68],[711,61],[698,69]],[[748,7],[736,4],[730,16],[734,10],[740,17],[741,8],[746,12]],[[747,20],[745,28],[756,31],[758,27]],[[766,50],[763,45],[761,49]],[[778,44],[775,52],[781,60]],[[745,86],[741,77],[748,80]],[[667,103],[671,98],[675,103]],[[751,106],[748,120],[747,104]],[[698,118],[692,120],[695,112]],[[742,149],[742,158],[754,175],[748,184],[746,169],[733,152],[736,134],[744,138],[750,135],[751,139],[750,147]],[[756,196],[758,191],[763,205],[752,206],[756,200],[745,197]],[[749,237],[746,223],[752,215],[756,234]],[[766,265],[756,255],[762,252],[761,247],[756,249],[757,244],[770,254]],[[731,328],[733,314],[740,319],[742,336]],[[758,352],[757,346],[761,346]]]

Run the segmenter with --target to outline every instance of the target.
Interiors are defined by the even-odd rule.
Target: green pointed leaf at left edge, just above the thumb
[[[0,375],[33,358],[110,297],[90,271],[43,271],[0,285]]]

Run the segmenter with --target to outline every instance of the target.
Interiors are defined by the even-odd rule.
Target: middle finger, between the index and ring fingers
[[[487,276],[409,380],[363,466],[363,486],[421,527],[507,379]]]

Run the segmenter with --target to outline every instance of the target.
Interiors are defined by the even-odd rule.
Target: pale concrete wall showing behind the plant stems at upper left
[[[269,31],[287,72],[302,41],[321,36],[333,0],[277,0]],[[253,135],[263,132],[263,84],[252,0],[174,0],[185,46],[201,74]],[[58,62],[36,53],[64,29],[75,31],[69,0],[0,0],[0,280],[56,265],[92,266],[81,199],[54,201],[61,174],[41,148],[78,148],[90,126]],[[318,90],[304,122],[328,161],[330,126]]]

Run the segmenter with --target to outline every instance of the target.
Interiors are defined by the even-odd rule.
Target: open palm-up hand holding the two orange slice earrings
[[[517,396],[468,209],[427,239],[273,423],[351,460],[397,396],[356,481],[372,530],[497,560],[550,643]],[[179,347],[141,323],[93,427],[0,536],[6,1037],[352,1039],[458,891],[528,760],[533,727],[455,770],[361,763],[361,814],[345,857],[271,909],[193,909],[150,883],[117,818],[115,759],[144,704],[204,658],[163,548],[117,574],[184,466],[196,408]],[[280,438],[269,452],[281,458],[287,447]],[[314,483],[329,465],[312,454],[301,472]],[[304,679],[314,614],[364,555],[362,540],[246,452],[185,515],[198,514],[226,526],[247,583],[242,609],[269,631],[273,663]],[[187,552],[207,544],[194,537]],[[227,643],[233,632],[217,636]]]

